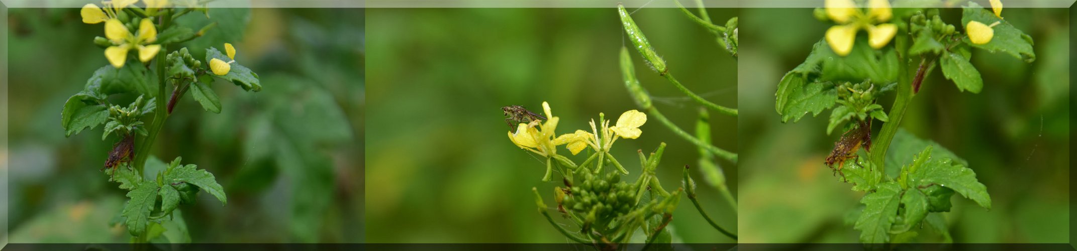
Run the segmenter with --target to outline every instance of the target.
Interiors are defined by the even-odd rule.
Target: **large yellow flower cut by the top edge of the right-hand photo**
[[[853,0],[826,0],[825,4],[827,16],[838,23],[826,30],[826,43],[830,44],[830,48],[839,56],[849,55],[853,51],[856,31],[861,29],[868,31],[868,45],[872,48],[886,46],[894,39],[894,34],[897,34],[897,25],[876,25],[893,17],[893,11],[886,0],[869,0],[866,14],[856,8]]]

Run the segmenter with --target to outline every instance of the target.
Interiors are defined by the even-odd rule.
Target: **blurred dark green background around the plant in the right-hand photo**
[[[943,9],[961,28],[960,9]],[[823,159],[840,134],[827,136],[829,112],[782,124],[774,92],[830,26],[812,9],[742,10],[740,141],[742,242],[858,242],[844,214],[862,192],[836,181]],[[1035,41],[1036,61],[973,50],[984,80],[960,93],[936,70],[924,81],[901,127],[968,161],[992,198],[990,211],[954,196],[943,213],[954,242],[1069,242],[1069,22],[1065,9],[1006,9],[1003,16]],[[893,94],[879,100],[889,111]],[[878,134],[881,123],[876,123]],[[887,167],[893,168],[893,167]],[[921,233],[921,241],[938,242]]]

